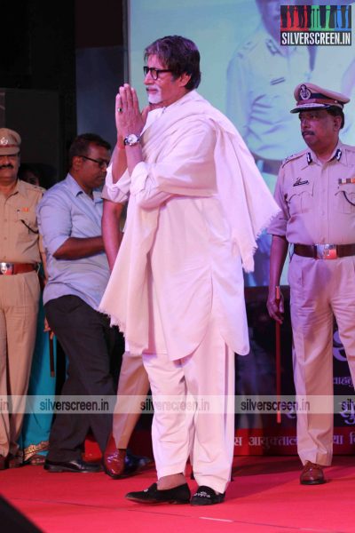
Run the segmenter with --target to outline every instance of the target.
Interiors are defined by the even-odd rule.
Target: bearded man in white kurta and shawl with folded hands
[[[130,350],[143,354],[154,397],[158,482],[127,495],[142,503],[190,501],[190,452],[199,485],[191,504],[225,498],[233,357],[248,354],[241,264],[252,269],[256,235],[278,211],[233,124],[193,91],[199,59],[188,39],[159,39],[146,49],[145,68],[157,108],[144,124],[128,84],[116,99],[118,141],[106,190],[114,202],[127,195],[130,202],[101,309]]]

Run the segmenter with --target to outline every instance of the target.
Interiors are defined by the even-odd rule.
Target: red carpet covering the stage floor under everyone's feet
[[[211,507],[125,500],[154,482],[153,469],[114,481],[25,466],[1,472],[0,491],[45,533],[355,533],[355,457],[335,457],[325,485],[301,486],[299,471],[297,457],[235,457],[225,503]]]

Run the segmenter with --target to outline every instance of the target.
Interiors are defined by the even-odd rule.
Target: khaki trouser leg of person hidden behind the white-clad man
[[[146,400],[149,380],[142,355],[125,352],[122,356],[117,402],[114,409],[113,435],[117,449],[126,449],[130,435],[141,415],[141,404]]]

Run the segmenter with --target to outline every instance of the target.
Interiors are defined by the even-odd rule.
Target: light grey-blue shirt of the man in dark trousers
[[[103,201],[99,191],[93,200],[75,179],[67,178],[51,187],[37,208],[38,227],[43,235],[49,281],[43,303],[66,295],[82,298],[98,309],[109,278],[105,252],[82,259],[55,259],[53,254],[69,237],[87,238],[101,235]]]

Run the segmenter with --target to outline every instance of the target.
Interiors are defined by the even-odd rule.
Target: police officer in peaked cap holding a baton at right
[[[280,214],[272,220],[269,314],[282,322],[275,301],[280,271],[288,270],[296,394],[311,411],[297,414],[301,483],[324,483],[333,453],[333,316],[355,382],[355,147],[339,140],[349,99],[315,84],[295,90],[303,152],[281,165],[275,189]],[[330,405],[325,405],[330,399]],[[329,403],[329,402],[328,402]],[[326,407],[326,409],[323,409]]]

